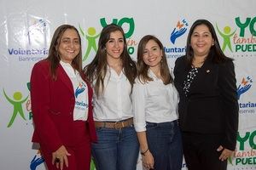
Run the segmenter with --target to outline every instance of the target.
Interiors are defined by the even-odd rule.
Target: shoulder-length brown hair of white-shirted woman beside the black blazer
[[[152,35],[144,36],[138,44],[138,48],[137,48],[137,77],[138,77],[139,81],[143,82],[143,83],[148,82],[148,81],[153,81],[153,79],[151,77],[148,77],[149,66],[146,65],[145,62],[143,61],[144,50],[145,50],[146,44],[150,40],[153,40],[154,42],[156,42],[159,45],[160,50],[162,51],[162,54],[163,54],[162,59],[160,61],[160,74],[161,74],[161,77],[163,77],[164,84],[172,83],[173,79],[170,74],[169,67],[167,65],[167,59],[166,59],[166,54],[164,51],[164,46],[157,37],[154,37]]]

